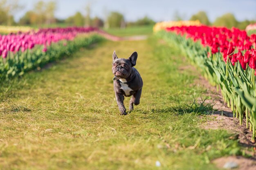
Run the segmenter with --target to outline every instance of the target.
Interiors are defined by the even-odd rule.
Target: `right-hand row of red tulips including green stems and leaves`
[[[240,124],[256,127],[256,35],[225,27],[173,26],[159,32],[176,43],[204,73],[211,84],[221,88],[228,107]]]

